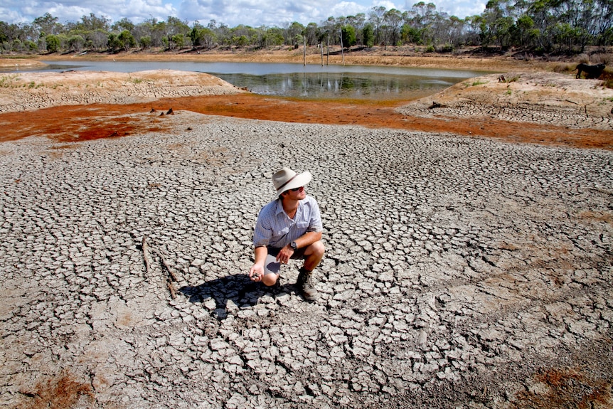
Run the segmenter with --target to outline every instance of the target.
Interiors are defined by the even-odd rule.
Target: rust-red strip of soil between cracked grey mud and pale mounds
[[[549,144],[566,147],[613,149],[610,131],[568,129],[496,119],[452,119],[407,117],[395,108],[407,101],[341,102],[287,100],[255,94],[184,97],[132,105],[78,105],[29,112],[0,114],[0,142],[30,136],[46,136],[58,142],[79,142],[128,134],[169,130],[164,115],[189,110],[207,115],[317,124],[355,124],[372,128],[449,132],[467,137],[490,137],[508,142]],[[142,117],[129,116],[142,113]],[[186,124],[186,127],[188,124]]]

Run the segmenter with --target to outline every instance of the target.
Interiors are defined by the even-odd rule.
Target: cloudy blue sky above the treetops
[[[395,2],[400,1],[400,2]],[[57,17],[60,23],[78,22],[82,16],[109,18],[112,22],[128,18],[142,23],[150,18],[166,21],[169,16],[186,21],[198,21],[206,26],[215,20],[218,24],[235,27],[277,26],[297,21],[321,23],[330,16],[355,16],[373,7],[386,10],[410,10],[419,0],[1,0],[0,21],[6,23],[32,23],[46,13]],[[424,0],[434,3],[437,11],[464,18],[483,13],[486,0]]]

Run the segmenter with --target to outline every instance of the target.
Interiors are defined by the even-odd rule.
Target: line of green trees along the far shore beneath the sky
[[[420,1],[410,10],[373,7],[368,14],[320,23],[228,27],[210,20],[188,24],[169,16],[134,24],[127,18],[82,16],[60,23],[44,14],[32,23],[0,21],[0,53],[119,52],[161,48],[269,48],[272,46],[403,46],[452,52],[463,46],[518,48],[531,53],[582,53],[613,43],[613,0],[490,0],[478,16],[457,18]]]

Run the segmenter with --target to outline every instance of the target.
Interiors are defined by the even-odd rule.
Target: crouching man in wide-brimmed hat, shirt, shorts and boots
[[[297,174],[283,168],[272,175],[278,197],[264,206],[257,216],[253,233],[255,262],[249,277],[267,286],[275,285],[282,264],[290,259],[303,259],[296,285],[304,299],[314,301],[317,290],[312,276],[324,257],[324,243],[321,242],[324,228],[319,205],[304,191],[310,181],[308,171]]]

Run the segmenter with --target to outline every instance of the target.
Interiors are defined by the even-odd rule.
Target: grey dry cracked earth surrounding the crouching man
[[[1,144],[0,405],[612,407],[611,151],[165,120]],[[318,302],[246,276],[279,166],[314,174]]]

